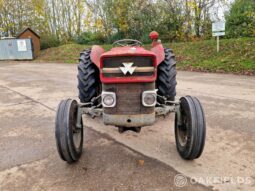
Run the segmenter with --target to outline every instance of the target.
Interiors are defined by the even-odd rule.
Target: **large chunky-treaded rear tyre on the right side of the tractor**
[[[176,61],[171,49],[165,49],[165,59],[158,66],[156,81],[158,94],[169,101],[174,101],[176,96]],[[162,103],[162,100],[158,100]]]

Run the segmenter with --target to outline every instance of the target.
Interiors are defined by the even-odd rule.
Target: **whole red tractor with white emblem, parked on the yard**
[[[93,46],[80,54],[78,89],[80,103],[60,102],[56,115],[56,142],[60,157],[72,163],[83,148],[82,115],[101,116],[119,132],[153,125],[158,115],[175,113],[176,147],[183,159],[198,158],[204,148],[206,123],[199,100],[185,96],[176,101],[176,61],[164,48],[158,33],[151,32],[151,50],[137,40],[113,43],[105,52]]]

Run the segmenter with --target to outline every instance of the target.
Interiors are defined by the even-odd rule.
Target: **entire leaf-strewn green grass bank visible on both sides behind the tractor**
[[[224,39],[220,52],[216,41],[164,44],[174,50],[180,70],[255,75],[255,38]],[[79,53],[89,45],[67,44],[41,51],[35,62],[77,63]],[[103,45],[109,50],[111,45]],[[149,48],[150,45],[145,45]]]

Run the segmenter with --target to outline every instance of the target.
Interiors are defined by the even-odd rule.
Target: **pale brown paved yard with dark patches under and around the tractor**
[[[61,99],[77,99],[76,65],[0,62],[0,191],[255,190],[255,77],[177,76],[178,97],[204,106],[199,159],[179,157],[171,115],[140,134],[84,116],[84,154],[67,165],[56,153],[54,118]],[[188,177],[184,187],[175,185],[177,174]]]

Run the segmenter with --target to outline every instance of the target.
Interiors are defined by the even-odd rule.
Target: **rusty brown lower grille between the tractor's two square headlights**
[[[103,84],[103,91],[116,93],[116,106],[104,108],[105,114],[112,115],[136,115],[150,114],[154,107],[144,107],[142,104],[142,92],[154,90],[155,83],[130,83],[130,84]]]

